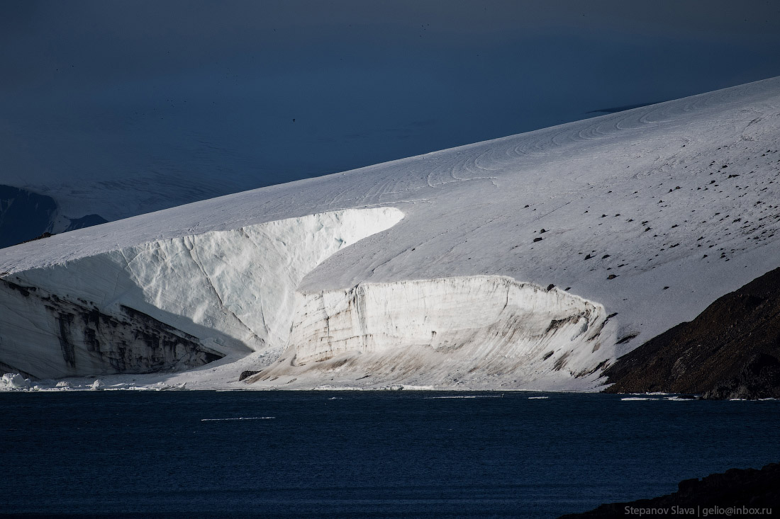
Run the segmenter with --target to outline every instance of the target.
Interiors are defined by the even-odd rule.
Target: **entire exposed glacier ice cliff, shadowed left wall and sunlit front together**
[[[594,387],[614,330],[603,306],[558,288],[468,276],[298,291],[323,260],[402,217],[333,211],[5,273],[0,367],[55,379],[224,358],[259,371],[244,383],[257,389]]]

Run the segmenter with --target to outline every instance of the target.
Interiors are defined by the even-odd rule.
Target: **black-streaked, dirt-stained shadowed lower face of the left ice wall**
[[[0,279],[2,305],[33,304],[44,309],[55,331],[57,343],[44,346],[59,355],[46,355],[39,363],[43,371],[34,368],[26,372],[40,378],[58,376],[97,375],[113,373],[147,373],[191,369],[222,358],[224,355],[204,347],[200,340],[182,330],[162,323],[144,312],[119,306],[109,314],[92,302],[71,300],[36,287],[23,286]],[[5,337],[27,333],[19,320],[0,316],[0,334]],[[30,337],[34,330],[30,330]],[[5,351],[0,344],[0,362],[14,369],[9,357],[24,357],[24,351]],[[32,351],[32,350],[31,350]],[[36,355],[30,353],[30,355]],[[53,359],[58,367],[52,368]],[[55,369],[56,372],[46,370]],[[18,371],[18,369],[17,369]]]

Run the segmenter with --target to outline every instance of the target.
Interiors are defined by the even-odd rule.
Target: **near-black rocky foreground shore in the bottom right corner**
[[[576,517],[630,517],[626,509],[644,510],[642,517],[704,517],[698,510],[707,510],[707,517],[725,517],[713,507],[736,507],[736,517],[773,517],[772,511],[780,507],[780,464],[771,463],[761,470],[731,468],[722,474],[708,475],[701,479],[679,482],[677,492],[667,496],[630,503],[601,505],[583,514],[567,514],[560,519]],[[676,508],[675,508],[676,507]],[[693,508],[691,512],[690,509]],[[771,508],[774,510],[762,510]],[[652,513],[650,510],[654,510]]]

